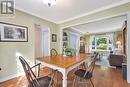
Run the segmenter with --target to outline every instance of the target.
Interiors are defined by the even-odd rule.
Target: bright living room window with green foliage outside
[[[94,36],[92,38],[92,50],[112,50],[113,43],[107,35]]]

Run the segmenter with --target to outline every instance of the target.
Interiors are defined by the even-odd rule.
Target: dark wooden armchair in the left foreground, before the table
[[[40,63],[34,65],[33,67],[30,67],[29,64],[26,62],[26,60],[22,57],[19,56],[19,60],[23,66],[26,78],[28,80],[28,87],[52,87],[53,83],[54,83],[54,76],[55,76],[55,72],[54,71],[53,74],[51,74],[51,76],[43,76],[40,77],[39,76],[39,72],[40,72]],[[38,67],[38,72],[37,75],[36,73],[33,72],[33,68],[36,69],[36,67]]]

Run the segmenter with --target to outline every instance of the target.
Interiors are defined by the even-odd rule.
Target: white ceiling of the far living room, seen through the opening
[[[84,34],[114,32],[122,29],[126,16],[114,17],[71,27]]]

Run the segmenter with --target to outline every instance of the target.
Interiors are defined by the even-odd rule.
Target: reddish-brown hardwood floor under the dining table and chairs
[[[41,70],[42,75],[47,75],[50,72],[48,68]],[[73,71],[68,74],[68,87],[72,87]],[[58,84],[54,87],[62,87],[61,73],[58,73]],[[130,87],[126,80],[122,79],[120,68],[112,69],[103,66],[96,66],[93,75],[95,87]],[[0,83],[0,87],[27,87],[27,80],[24,76]],[[78,83],[77,87],[85,87],[83,83]],[[88,83],[87,87],[91,87]]]

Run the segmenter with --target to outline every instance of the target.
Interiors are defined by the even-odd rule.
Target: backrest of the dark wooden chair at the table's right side
[[[84,77],[85,77],[86,75],[88,75],[88,74],[90,74],[90,75],[93,74],[93,70],[94,70],[94,67],[95,67],[95,62],[96,62],[97,56],[98,56],[98,53],[96,53],[96,54],[94,55],[91,64],[89,65],[89,67],[88,67],[87,70],[86,70],[86,73],[84,74]]]

